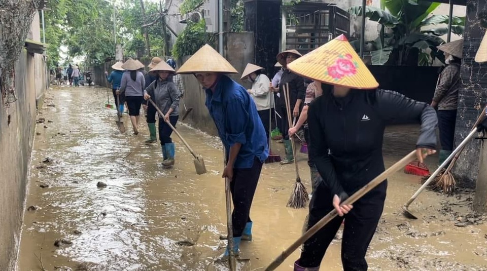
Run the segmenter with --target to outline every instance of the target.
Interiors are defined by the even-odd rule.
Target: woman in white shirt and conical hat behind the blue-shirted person
[[[272,98],[272,93],[269,92],[270,80],[267,75],[262,73],[263,70],[263,67],[249,63],[243,70],[240,79],[252,82],[252,88],[248,89],[247,92],[254,99],[260,120],[264,125],[267,143],[269,143],[270,99]]]

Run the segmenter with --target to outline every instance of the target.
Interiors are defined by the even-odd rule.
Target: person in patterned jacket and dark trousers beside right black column
[[[442,44],[438,50],[445,55],[446,66],[440,73],[431,107],[438,108],[438,128],[440,130],[441,150],[439,164],[453,151],[455,123],[457,121],[458,90],[460,82],[460,62],[463,52],[463,38]]]

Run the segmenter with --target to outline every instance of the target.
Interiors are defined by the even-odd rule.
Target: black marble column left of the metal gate
[[[245,31],[255,35],[255,63],[274,75],[276,55],[281,37],[281,1],[253,0],[245,2]]]

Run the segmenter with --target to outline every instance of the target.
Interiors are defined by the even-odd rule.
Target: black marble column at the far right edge
[[[472,129],[487,103],[487,63],[474,61],[487,27],[487,0],[467,0],[467,20],[461,67],[462,89],[459,91],[455,143],[458,145]],[[454,174],[460,184],[474,185],[477,180],[480,142],[470,142],[458,160]]]

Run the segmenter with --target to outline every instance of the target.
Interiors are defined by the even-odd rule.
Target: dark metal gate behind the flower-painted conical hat
[[[350,33],[350,14],[334,4],[300,2],[283,7],[283,13],[286,50],[296,49],[306,54],[340,34]]]

